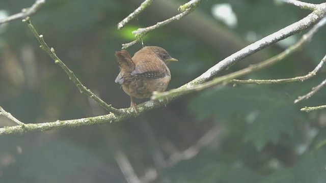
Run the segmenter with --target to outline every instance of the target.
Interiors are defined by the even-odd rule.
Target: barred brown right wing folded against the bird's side
[[[156,60],[155,60],[156,59]],[[142,59],[137,62],[131,75],[159,78],[166,74],[166,65],[159,58]]]

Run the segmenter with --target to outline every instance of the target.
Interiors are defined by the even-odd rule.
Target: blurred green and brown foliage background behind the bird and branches
[[[178,6],[187,1],[154,1],[137,19],[117,30],[118,22],[141,2],[47,0],[31,19],[80,81],[107,103],[128,107],[129,97],[114,83],[119,72],[114,52],[132,40],[134,29],[175,15]],[[11,15],[33,3],[3,0],[0,11]],[[229,3],[237,16],[235,28],[211,14],[213,5],[223,3]],[[178,58],[179,62],[169,65],[169,88],[175,88],[199,76],[227,53],[308,13],[274,1],[202,1],[191,15],[149,33],[144,44],[164,47]],[[207,27],[198,25],[203,20]],[[200,32],[211,27],[214,32]],[[80,94],[39,49],[26,24],[17,20],[0,28],[0,106],[24,123],[106,113]],[[230,40],[231,45],[207,41],[207,37],[227,39],[222,29],[236,41]],[[291,39],[295,41],[304,33]],[[325,37],[323,27],[300,52],[244,79],[307,74],[325,54]],[[138,43],[128,51],[134,53],[141,47]],[[284,48],[284,44],[270,46],[260,52],[261,59],[242,60],[224,73],[260,62]],[[293,104],[324,77],[322,69],[313,79],[300,83],[216,86],[116,125],[4,136],[0,138],[0,182],[127,182],[121,164],[117,164],[122,155],[138,177],[154,168],[157,177],[153,182],[326,182],[326,113],[300,111],[304,106],[325,104],[325,89],[308,101]],[[1,117],[0,125],[15,124]],[[203,142],[199,139],[212,128],[221,134],[196,149],[194,144]],[[199,150],[195,157],[183,157],[185,160],[173,165],[162,163],[189,147]]]

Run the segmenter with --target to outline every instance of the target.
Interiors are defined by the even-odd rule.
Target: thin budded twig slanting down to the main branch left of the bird
[[[39,35],[36,32],[36,29],[31,23],[30,17],[26,17],[24,20],[30,27],[32,33],[34,36],[37,38],[39,43],[41,44],[40,48],[42,48],[53,60],[55,60],[55,63],[58,64],[69,76],[69,79],[77,86],[79,89],[80,93],[84,93],[85,95],[89,96],[92,98],[95,102],[97,102],[99,105],[101,105],[104,109],[107,111],[116,113],[116,114],[121,114],[121,111],[119,109],[116,109],[112,107],[111,105],[106,104],[102,99],[98,98],[90,89],[87,89],[86,86],[82,84],[82,82],[79,81],[79,79],[75,76],[75,74],[61,61],[61,59],[56,55],[55,49],[49,48],[47,44],[45,43],[43,39],[43,35]]]

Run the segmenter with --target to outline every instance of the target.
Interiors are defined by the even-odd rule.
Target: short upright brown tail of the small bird
[[[127,50],[117,51],[115,55],[117,57],[119,67],[121,70],[130,73],[134,70],[135,65],[132,62],[131,56],[129,55]]]

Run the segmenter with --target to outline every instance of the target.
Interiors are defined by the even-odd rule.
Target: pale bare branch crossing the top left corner
[[[36,13],[36,11],[39,10],[44,3],[45,3],[45,0],[36,0],[35,3],[31,6],[31,8],[24,8],[21,10],[20,13],[17,13],[17,14],[14,14],[9,17],[1,19],[0,25],[3,23],[7,23],[9,21],[12,21],[12,20],[31,16],[34,13]]]

